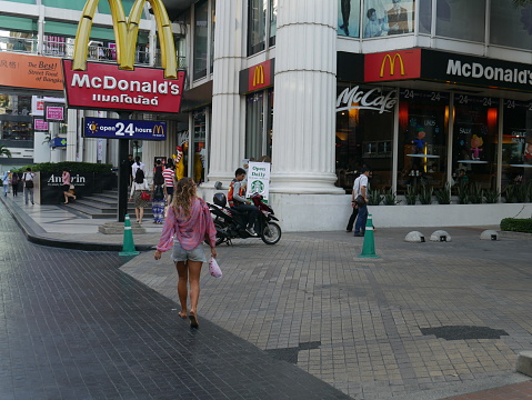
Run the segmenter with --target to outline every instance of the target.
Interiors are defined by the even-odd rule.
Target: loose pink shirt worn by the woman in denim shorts
[[[209,236],[210,246],[217,242],[217,229],[212,222],[211,212],[205,202],[199,198],[192,199],[190,216],[185,218],[181,212],[175,214],[173,207],[168,209],[168,216],[162,228],[161,240],[157,246],[159,251],[172,249],[173,236],[184,250],[195,249]]]

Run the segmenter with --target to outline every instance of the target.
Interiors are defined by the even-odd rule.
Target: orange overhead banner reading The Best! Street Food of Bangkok
[[[62,91],[61,60],[0,51],[0,86]]]

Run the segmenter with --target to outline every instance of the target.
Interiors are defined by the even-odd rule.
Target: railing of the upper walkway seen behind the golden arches
[[[28,38],[11,38],[0,36],[0,51],[38,54],[38,40]],[[42,43],[42,56],[60,57],[71,59],[74,53],[74,44],[54,40],[46,40]],[[88,61],[117,62],[117,49],[102,46],[89,46],[87,52]],[[149,66],[149,51],[137,50],[134,63],[137,66]],[[161,52],[155,51],[153,67],[161,67]],[[187,69],[187,58],[178,57],[178,68]]]

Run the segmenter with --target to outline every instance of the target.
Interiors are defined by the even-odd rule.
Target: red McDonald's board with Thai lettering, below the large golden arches
[[[88,62],[86,71],[72,71],[72,61],[63,60],[67,103],[80,109],[112,109],[152,112],[179,112],[184,71],[178,79],[165,79],[155,68],[126,71],[112,63]]]

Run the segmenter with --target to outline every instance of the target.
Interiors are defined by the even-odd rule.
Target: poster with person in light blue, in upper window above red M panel
[[[414,10],[415,0],[365,0],[362,38],[413,32]]]

